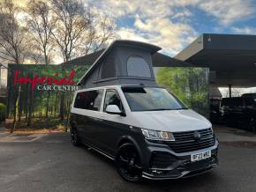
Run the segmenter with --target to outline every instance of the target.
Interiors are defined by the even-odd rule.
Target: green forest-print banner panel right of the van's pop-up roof
[[[208,70],[206,68],[159,68],[158,85],[173,92],[187,107],[208,115]]]

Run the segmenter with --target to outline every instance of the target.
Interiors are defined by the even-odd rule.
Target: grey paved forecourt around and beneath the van
[[[139,184],[123,181],[102,155],[72,147],[69,134],[32,142],[2,140],[0,191],[256,191],[256,135],[224,127],[215,131],[221,140],[215,170],[190,179]]]

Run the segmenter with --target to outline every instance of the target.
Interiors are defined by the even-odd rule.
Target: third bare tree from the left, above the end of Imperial
[[[66,62],[74,55],[79,38],[89,25],[88,12],[84,4],[76,0],[51,0],[50,2],[54,12],[53,18],[56,20],[56,28],[51,33]]]

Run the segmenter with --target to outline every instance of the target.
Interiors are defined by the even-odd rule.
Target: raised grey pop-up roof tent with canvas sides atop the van
[[[152,55],[161,48],[139,41],[114,41],[80,78],[84,88],[104,85],[156,85]]]

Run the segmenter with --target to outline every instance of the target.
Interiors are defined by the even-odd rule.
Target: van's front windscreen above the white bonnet
[[[167,90],[154,87],[122,87],[132,111],[162,111],[187,109]]]

